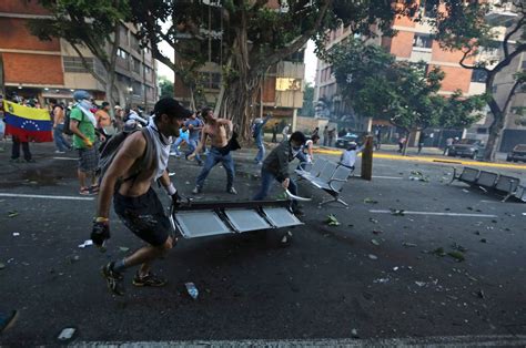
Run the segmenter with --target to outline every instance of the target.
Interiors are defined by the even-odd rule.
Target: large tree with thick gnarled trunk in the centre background
[[[280,0],[277,8],[269,0],[131,3],[133,20],[151,43],[153,55],[181,74],[183,82],[184,73],[192,74],[204,61],[221,65],[222,89],[215,110],[232,119],[244,139],[250,137],[250,115],[257,113],[251,105],[256,108],[270,66],[301,50],[311,38],[322,47],[327,29],[350,24],[354,32],[368,33],[375,24],[390,32],[394,16],[413,9],[374,0]],[[174,63],[158,49],[162,41],[180,58]]]

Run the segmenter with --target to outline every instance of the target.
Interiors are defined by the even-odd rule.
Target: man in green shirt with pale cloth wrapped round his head
[[[95,140],[104,142],[105,137],[95,132],[97,119],[90,109],[93,108],[87,91],[75,91],[73,99],[77,102],[70,114],[70,129],[73,132],[73,147],[79,152],[79,168],[77,174],[80,182],[81,195],[95,194],[99,186],[95,184],[95,170],[99,165],[99,152]],[[91,180],[91,186],[87,186],[88,176]]]

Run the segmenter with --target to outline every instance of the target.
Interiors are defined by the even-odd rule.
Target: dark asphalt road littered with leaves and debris
[[[290,245],[281,243],[284,231],[182,239],[155,264],[170,280],[166,287],[134,288],[130,269],[125,296],[114,297],[99,268],[123,256],[121,247],[132,250],[141,242],[112,216],[108,253],[79,248],[89,238],[95,202],[77,199],[74,154],[57,157],[49,145],[33,147],[36,164],[8,164],[8,154],[0,153],[0,313],[19,310],[0,345],[54,345],[65,327],[77,328],[73,344],[336,339],[317,341],[335,345],[353,338],[346,342],[375,345],[459,336],[526,342],[526,204],[446,185],[448,165],[376,160],[372,182],[353,177],[345,185],[348,209],[318,208],[328,196],[301,183],[300,194],[314,202],[304,204],[305,225],[291,229]],[[257,188],[259,168],[246,153],[236,158],[235,199],[247,199]],[[176,186],[190,195],[200,167],[184,160],[172,160],[171,167]],[[411,181],[412,171],[429,181]],[[520,170],[497,172],[524,177]],[[232,199],[224,183],[224,171],[214,168],[195,198]],[[325,223],[328,214],[340,226]],[[463,249],[465,260],[435,255],[438,248]],[[198,300],[185,293],[186,282],[198,286]]]

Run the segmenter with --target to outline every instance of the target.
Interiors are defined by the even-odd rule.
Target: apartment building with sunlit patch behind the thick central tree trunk
[[[208,57],[208,62],[199,69],[199,84],[204,101],[198,100],[198,103],[213,106],[218,102],[222,84],[221,66],[224,62],[221,49],[222,23],[219,16],[221,1],[203,0],[202,6],[203,16],[206,17],[204,22],[209,23],[209,28],[201,29],[201,34],[209,38],[209,41],[203,51],[203,54]],[[277,0],[269,1],[267,7],[276,11],[284,10]],[[181,34],[178,39],[181,42],[186,37]],[[180,58],[175,54],[174,59],[178,61]],[[176,74],[174,81],[175,98],[190,105],[193,96],[191,91]],[[259,113],[255,116],[272,112],[274,117],[267,126],[281,122],[292,124],[295,129],[297,111],[303,106],[304,81],[304,50],[301,50],[269,69],[257,93],[254,108],[259,110]]]

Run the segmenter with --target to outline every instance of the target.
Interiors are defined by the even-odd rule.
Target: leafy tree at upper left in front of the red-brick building
[[[61,38],[71,44],[84,68],[105,90],[111,104],[119,99],[123,104],[124,91],[115,83],[117,51],[120,45],[121,22],[130,19],[127,0],[39,0],[50,11],[51,18],[32,19],[28,25],[41,40]],[[85,47],[102,64],[98,71],[82,53]],[[110,52],[110,53],[108,53]],[[117,91],[118,96],[114,96]]]

